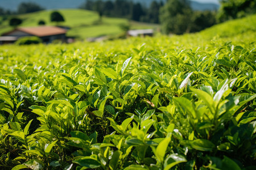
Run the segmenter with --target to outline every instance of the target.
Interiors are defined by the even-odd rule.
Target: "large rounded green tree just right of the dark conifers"
[[[192,10],[187,0],[168,0],[160,9],[160,23],[164,33],[189,32]]]

